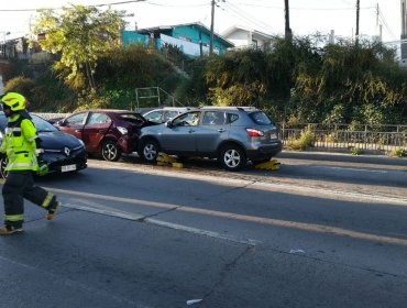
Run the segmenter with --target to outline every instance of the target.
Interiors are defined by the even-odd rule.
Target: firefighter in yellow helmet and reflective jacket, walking
[[[24,198],[43,207],[47,211],[47,220],[54,219],[61,202],[54,194],[34,185],[33,174],[46,172],[47,165],[42,161],[41,139],[25,110],[25,98],[9,92],[1,98],[1,102],[4,116],[9,118],[0,147],[8,158],[8,176],[2,190],[4,227],[0,228],[0,235],[7,235],[23,231]]]

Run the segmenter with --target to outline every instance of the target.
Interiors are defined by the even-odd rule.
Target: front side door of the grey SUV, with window
[[[161,135],[163,150],[169,153],[195,154],[195,132],[198,128],[200,111],[180,114],[172,121]]]

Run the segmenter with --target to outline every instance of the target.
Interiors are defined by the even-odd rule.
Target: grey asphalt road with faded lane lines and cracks
[[[0,307],[407,307],[407,161],[278,158],[38,179],[64,208],[0,239]]]

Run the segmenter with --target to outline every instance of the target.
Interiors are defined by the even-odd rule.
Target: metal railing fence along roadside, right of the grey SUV
[[[280,124],[284,144],[302,132],[314,135],[315,147],[375,150],[384,153],[407,150],[407,125],[352,125],[307,123]]]

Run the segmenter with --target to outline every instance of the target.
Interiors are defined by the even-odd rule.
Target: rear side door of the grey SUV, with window
[[[200,154],[215,153],[218,145],[228,138],[229,130],[223,111],[205,111],[202,122],[196,131],[197,151]]]

